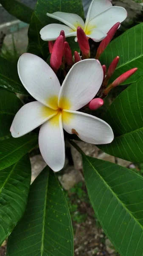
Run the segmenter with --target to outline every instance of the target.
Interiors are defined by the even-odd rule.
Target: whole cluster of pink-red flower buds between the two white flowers
[[[107,37],[104,38],[96,52],[95,59],[99,59],[101,54],[104,52],[106,47],[108,46],[109,42],[112,40],[112,38],[115,35],[115,32],[120,26],[120,22],[117,22],[107,33]],[[79,48],[81,50],[82,58],[80,57],[79,53],[77,51],[74,52],[74,61],[73,61],[73,55],[70,49],[69,44],[67,41],[65,41],[65,35],[64,31],[62,30],[60,32],[59,37],[56,39],[55,43],[53,44],[53,41],[48,42],[49,51],[51,53],[50,56],[50,66],[52,67],[53,71],[57,73],[60,67],[64,70],[64,76],[66,76],[68,70],[72,67],[72,65],[78,61],[81,61],[81,59],[90,58],[90,45],[89,45],[89,38],[84,33],[84,30],[79,26],[77,28],[77,41],[79,44]],[[121,76],[119,76],[115,81],[113,81],[111,84],[108,85],[109,79],[112,77],[113,73],[115,72],[115,69],[119,62],[119,56],[114,58],[114,60],[109,65],[109,68],[107,70],[106,65],[103,65],[103,72],[104,72],[104,79],[103,83],[101,85],[101,88],[98,92],[98,97],[93,99],[89,104],[88,108],[91,110],[96,110],[100,108],[104,101],[103,99],[108,95],[109,91],[118,86],[119,84],[123,83],[126,79],[128,79],[130,76],[132,76],[136,71],[137,68],[133,68],[131,70],[126,71]],[[66,64],[66,68],[65,68]],[[66,71],[65,71],[66,69]]]

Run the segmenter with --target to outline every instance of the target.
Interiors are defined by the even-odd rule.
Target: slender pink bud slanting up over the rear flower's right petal
[[[96,53],[96,57],[95,57],[96,59],[98,59],[100,57],[100,55],[102,54],[102,52],[104,52],[104,50],[108,46],[109,42],[112,40],[113,36],[115,35],[115,32],[117,31],[119,25],[120,25],[120,22],[117,22],[114,26],[112,26],[112,28],[107,33],[107,37],[101,41],[101,43],[97,49],[97,53]]]

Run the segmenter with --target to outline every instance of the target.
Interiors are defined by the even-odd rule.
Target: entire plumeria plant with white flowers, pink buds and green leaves
[[[35,10],[0,3],[30,23],[27,52],[17,63],[0,57],[0,243],[8,238],[7,256],[73,256],[56,178],[67,145],[81,154],[91,204],[115,249],[143,255],[143,177],[77,144],[143,163],[143,23],[116,37],[127,12],[109,0],[92,0],[86,19],[81,0],[38,0]],[[28,153],[37,151],[47,167],[30,186]]]

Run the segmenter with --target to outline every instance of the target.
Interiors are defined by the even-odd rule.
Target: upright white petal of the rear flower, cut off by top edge
[[[107,10],[109,7],[112,6],[112,3],[109,0],[93,0],[90,3],[88,12],[87,12],[87,17],[86,17],[86,22],[85,26],[87,26],[87,23],[96,15],[98,15],[101,12],[104,12]]]

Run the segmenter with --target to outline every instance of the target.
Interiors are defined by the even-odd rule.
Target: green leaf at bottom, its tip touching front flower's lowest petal
[[[25,214],[8,239],[7,255],[73,256],[70,212],[48,167],[31,185]]]

